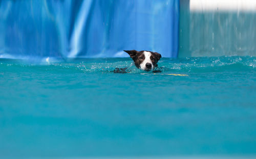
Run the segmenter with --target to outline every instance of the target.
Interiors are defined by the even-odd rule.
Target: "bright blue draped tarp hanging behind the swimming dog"
[[[177,57],[179,0],[0,0],[0,57]]]

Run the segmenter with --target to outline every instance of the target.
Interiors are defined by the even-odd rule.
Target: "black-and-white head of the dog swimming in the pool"
[[[124,50],[134,60],[138,69],[151,71],[157,67],[161,54],[151,51]]]

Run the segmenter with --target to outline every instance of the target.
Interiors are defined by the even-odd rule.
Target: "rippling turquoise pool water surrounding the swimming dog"
[[[0,157],[256,153],[256,57],[132,64],[0,59]]]

